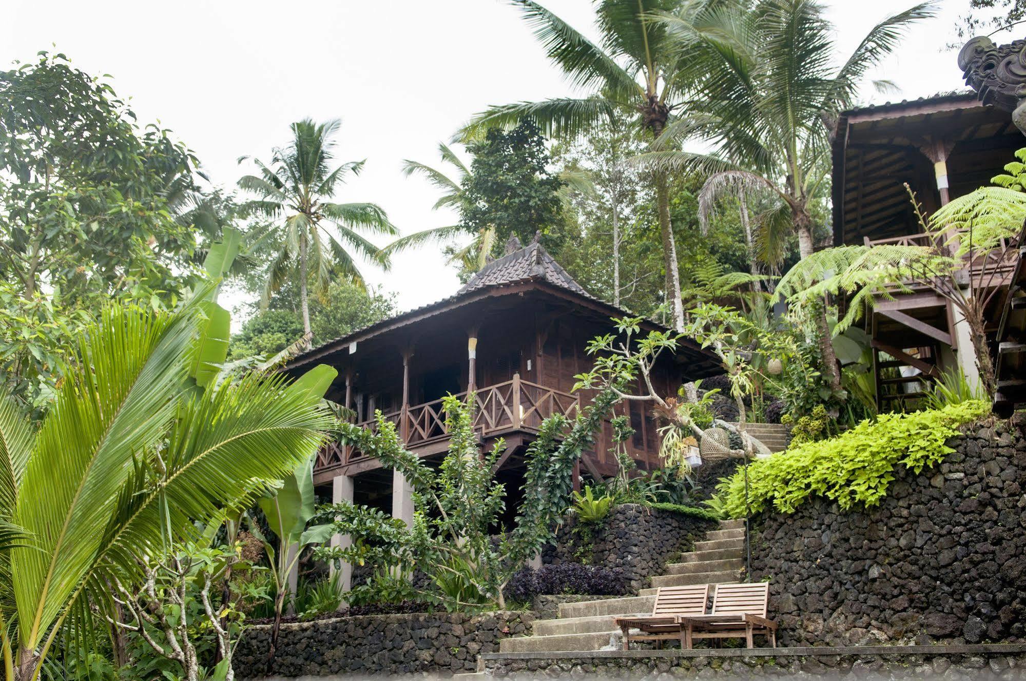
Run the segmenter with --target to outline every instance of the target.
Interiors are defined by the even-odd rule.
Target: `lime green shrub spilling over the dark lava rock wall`
[[[981,400],[914,413],[880,414],[829,440],[806,442],[748,467],[748,508],[793,513],[816,494],[842,510],[876,506],[895,479],[895,468],[916,473],[939,464],[953,449],[945,444],[958,426],[987,415]],[[731,518],[745,516],[745,477],[739,470],[718,487]]]

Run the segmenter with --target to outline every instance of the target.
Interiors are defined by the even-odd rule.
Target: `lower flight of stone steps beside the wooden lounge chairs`
[[[563,603],[555,619],[536,619],[534,636],[503,639],[500,652],[569,652],[619,649],[617,617],[652,614],[659,587],[738,582],[744,569],[745,523],[723,520],[706,532],[695,551],[669,563],[667,573],[652,578],[653,588],[637,596]]]

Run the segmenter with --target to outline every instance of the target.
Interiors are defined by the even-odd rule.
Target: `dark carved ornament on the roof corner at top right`
[[[1012,112],[1026,134],[1026,40],[995,45],[984,36],[973,38],[958,52],[958,68],[981,102]]]

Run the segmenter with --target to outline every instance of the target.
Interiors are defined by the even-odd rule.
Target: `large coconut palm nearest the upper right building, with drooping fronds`
[[[933,15],[933,7],[918,4],[880,22],[839,68],[833,61],[833,27],[814,0],[759,0],[731,11],[710,3],[709,8],[696,13],[689,4],[649,17],[668,49],[686,55],[699,75],[685,111],[659,141],[667,148],[642,160],[664,173],[707,173],[707,202],[721,192],[767,194],[776,207],[759,221],[763,245],[767,236],[789,232],[806,258],[815,250],[811,206],[825,193],[829,176],[824,119],[852,106],[866,73],[895,49],[912,23]],[[713,152],[684,151],[678,147],[683,139],[702,141]],[[824,368],[837,389],[840,375],[825,311],[816,319]]]

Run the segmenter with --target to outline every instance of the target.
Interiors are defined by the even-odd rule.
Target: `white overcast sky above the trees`
[[[518,10],[501,0],[334,2],[96,2],[5,0],[0,64],[41,49],[65,52],[93,74],[111,74],[142,122],[158,120],[199,156],[216,185],[232,188],[242,155],[268,158],[304,117],[341,118],[342,160],[366,158],[340,201],[373,201],[404,233],[452,224],[433,212],[434,188],[400,174],[402,159],[435,164],[436,147],[492,104],[570,92],[546,61]],[[591,33],[590,0],[546,6]],[[902,0],[828,0],[839,51]],[[901,91],[869,102],[913,98],[962,87],[953,26],[968,0],[908,38],[874,78]],[[54,47],[55,45],[55,47]],[[682,254],[685,257],[686,254]],[[430,247],[395,258],[367,278],[410,309],[450,294],[459,282]]]

